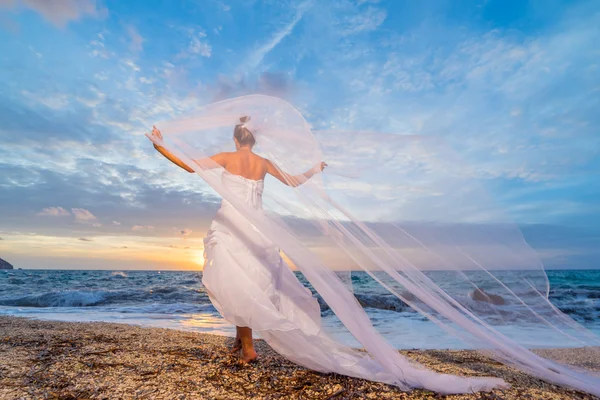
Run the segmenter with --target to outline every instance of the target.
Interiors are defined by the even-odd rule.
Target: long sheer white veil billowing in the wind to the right
[[[294,189],[268,185],[264,212],[245,206],[222,184],[223,169],[206,159],[231,150],[233,126],[242,116],[250,117],[246,127],[256,153],[282,171],[301,174],[322,160],[330,167]],[[392,383],[428,387],[427,375],[413,374],[417,367],[373,327],[349,273],[341,271],[366,272],[373,290],[400,299],[465,347],[600,395],[598,375],[528,350],[597,351],[600,341],[548,300],[536,253],[440,139],[312,132],[290,104],[262,95],[210,104],[157,127],[163,146],[280,247],[352,336],[396,377]],[[524,343],[523,332],[542,342]]]

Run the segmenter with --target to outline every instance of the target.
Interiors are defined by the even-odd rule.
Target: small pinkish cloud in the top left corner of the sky
[[[97,17],[106,13],[100,9],[96,0],[3,0],[2,7],[27,7],[41,14],[58,27],[64,27],[71,21],[85,16]]]

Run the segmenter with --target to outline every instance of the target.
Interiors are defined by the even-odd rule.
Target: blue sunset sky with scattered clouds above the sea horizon
[[[219,199],[144,133],[260,93],[443,138],[547,267],[600,267],[599,43],[594,0],[0,0],[0,257],[199,269]]]

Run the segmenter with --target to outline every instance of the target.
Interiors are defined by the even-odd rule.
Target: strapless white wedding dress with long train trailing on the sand
[[[231,194],[262,209],[263,180],[228,172],[223,185]],[[258,332],[287,359],[320,372],[364,378],[404,389],[469,393],[506,387],[497,378],[437,374],[410,364],[386,372],[368,353],[343,346],[321,331],[319,303],[283,261],[279,249],[235,207],[223,200],[204,239],[202,283],[219,313],[236,326]]]

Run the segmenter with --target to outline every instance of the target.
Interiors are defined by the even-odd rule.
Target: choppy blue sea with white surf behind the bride
[[[548,270],[550,301],[600,335],[600,270]],[[298,278],[307,287],[303,276]],[[378,291],[364,272],[353,272],[356,297],[373,325],[399,349],[468,348],[395,297]],[[465,293],[466,295],[466,293]],[[235,327],[211,305],[201,272],[0,270],[0,314],[60,321],[106,321],[234,335]],[[356,346],[335,314],[322,302],[324,329]],[[399,334],[399,332],[401,334]],[[532,347],[561,347],[540,340],[543,332],[511,332]],[[528,343],[532,337],[535,343]],[[543,346],[540,346],[543,343]]]

